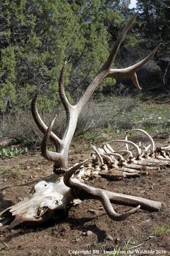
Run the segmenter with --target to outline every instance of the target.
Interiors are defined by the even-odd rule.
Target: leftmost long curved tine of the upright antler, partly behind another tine
[[[39,130],[42,131],[43,134],[45,134],[48,127],[45,125],[43,120],[40,118],[36,103],[37,103],[39,93],[41,92],[41,90],[43,89],[43,87],[45,85],[46,85],[46,83],[38,88],[38,90],[36,91],[36,94],[33,97],[32,102],[31,102],[31,112],[33,115],[33,119],[36,122],[36,125],[38,126]],[[56,151],[60,152],[60,150],[62,149],[62,141],[53,132],[50,134],[50,140],[52,141],[52,144],[54,144]]]

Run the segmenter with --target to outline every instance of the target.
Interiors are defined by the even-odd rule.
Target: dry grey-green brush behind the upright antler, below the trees
[[[119,97],[113,96],[100,99],[97,102],[89,102],[79,116],[74,136],[82,135],[97,128],[110,126],[115,129],[117,124],[120,126],[119,119],[122,111],[131,112],[135,105],[137,105],[137,101],[130,97],[121,96],[121,94],[119,94]],[[48,126],[56,112],[58,118],[55,121],[53,132],[58,137],[62,137],[66,125],[66,114],[63,107],[59,107],[57,111],[51,113],[44,112],[40,116]],[[124,122],[124,118],[121,122]],[[0,140],[15,139],[38,147],[42,138],[43,134],[33,121],[31,112],[18,112],[1,117]]]

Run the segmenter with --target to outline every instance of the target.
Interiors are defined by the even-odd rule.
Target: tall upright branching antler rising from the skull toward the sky
[[[95,78],[91,81],[87,90],[85,91],[85,93],[83,94],[83,96],[80,98],[80,100],[78,101],[78,103],[75,106],[72,106],[68,102],[67,97],[64,92],[64,70],[65,70],[67,62],[64,63],[64,66],[61,70],[60,81],[59,81],[59,94],[61,97],[61,101],[64,105],[64,108],[66,110],[67,124],[66,124],[66,128],[65,128],[64,135],[63,135],[62,139],[59,139],[54,133],[51,132],[52,125],[53,125],[55,119],[52,121],[50,127],[47,128],[47,126],[44,124],[43,120],[40,118],[39,113],[37,111],[37,107],[36,107],[37,98],[45,84],[43,84],[36,92],[36,94],[32,100],[32,103],[31,103],[32,115],[36,122],[36,125],[44,134],[44,138],[43,138],[43,141],[41,144],[42,155],[44,156],[45,159],[55,162],[54,172],[57,173],[58,171],[59,172],[67,171],[67,169],[68,169],[68,167],[67,167],[68,151],[69,151],[72,137],[73,137],[75,129],[76,129],[76,124],[77,124],[79,114],[80,114],[82,108],[85,106],[85,104],[89,100],[89,98],[91,97],[91,94],[93,94],[97,85],[100,83],[100,81],[103,80],[103,78],[128,77],[128,78],[132,79],[132,81],[134,82],[135,86],[138,89],[141,89],[138,84],[137,75],[136,75],[135,71],[137,69],[139,69],[141,66],[143,66],[147,61],[149,61],[149,59],[152,58],[152,56],[154,55],[154,53],[156,52],[156,50],[158,49],[158,47],[160,45],[158,45],[158,47],[156,47],[155,50],[153,50],[152,53],[149,54],[149,56],[147,56],[145,59],[143,59],[139,63],[135,64],[134,66],[128,67],[126,69],[111,69],[112,63],[115,59],[116,53],[118,52],[121,41],[123,40],[125,34],[127,33],[128,29],[130,28],[130,26],[131,26],[132,22],[134,21],[134,19],[136,18],[137,14],[138,14],[138,12],[132,17],[132,19],[128,22],[126,27],[123,29],[123,31],[119,35],[118,39],[116,40],[116,42],[112,48],[112,51],[109,54],[109,57],[106,60],[105,64],[100,69],[100,71],[97,73]],[[47,149],[49,139],[54,144],[54,146],[56,148],[56,152],[50,152]]]

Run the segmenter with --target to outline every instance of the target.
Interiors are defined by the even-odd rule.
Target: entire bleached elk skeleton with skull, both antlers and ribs
[[[154,156],[155,149],[154,143],[151,140],[152,138],[150,139],[152,146],[149,153],[149,147],[137,146],[136,144],[127,141],[126,137],[125,140],[116,140],[115,142],[125,143],[126,145],[133,145],[134,150],[136,150],[137,152],[135,156],[132,155],[131,150],[128,150],[128,147],[127,150],[120,150],[118,152],[114,152],[114,150],[107,143],[98,150],[93,147],[94,153],[92,154],[92,156],[94,160],[97,159],[96,156],[98,157],[97,161],[94,161],[94,166],[92,166],[91,164],[86,166],[85,163],[87,162],[87,160],[76,164],[70,169],[67,166],[69,146],[74,131],[76,129],[78,116],[82,108],[87,103],[88,99],[91,97],[91,94],[100,83],[100,81],[102,81],[103,78],[128,77],[132,79],[138,89],[141,89],[138,84],[135,71],[152,58],[159,45],[155,48],[155,50],[152,51],[152,53],[149,54],[149,56],[147,56],[145,59],[135,64],[134,66],[125,69],[111,69],[112,63],[115,59],[116,53],[118,52],[121,41],[123,40],[124,35],[128,31],[128,29],[130,28],[132,22],[136,18],[137,13],[134,15],[134,17],[132,17],[132,19],[123,29],[118,39],[116,40],[105,64],[97,73],[95,78],[91,81],[87,90],[75,106],[70,105],[64,93],[64,70],[67,62],[64,63],[59,80],[59,94],[66,110],[67,124],[62,139],[58,138],[52,132],[52,127],[54,125],[56,115],[49,127],[47,127],[44,124],[43,120],[40,118],[36,108],[37,98],[45,84],[43,84],[36,92],[31,103],[32,115],[34,121],[36,122],[36,125],[44,134],[41,144],[41,153],[45,159],[55,163],[54,174],[51,178],[39,179],[37,184],[32,188],[29,194],[27,194],[23,201],[1,212],[1,225],[12,221],[9,225],[9,228],[12,229],[21,223],[31,225],[34,223],[44,222],[48,219],[61,218],[61,216],[63,216],[66,212],[67,203],[75,198],[79,198],[80,200],[99,200],[103,204],[103,207],[106,210],[108,216],[115,221],[121,221],[127,218],[128,216],[136,212],[139,208],[149,211],[158,211],[161,208],[160,202],[147,200],[140,197],[113,193],[106,190],[90,187],[83,183],[84,179],[87,179],[91,176],[98,177],[100,173],[106,172],[108,171],[108,169],[114,169],[117,172],[121,172],[121,175],[123,176],[127,175],[127,173],[130,173],[131,175],[134,173],[135,175],[139,174],[138,169],[141,162],[145,162],[146,165],[148,165],[149,157]],[[48,150],[47,145],[49,139],[54,144],[56,152],[51,152]],[[142,150],[143,152],[141,153]],[[127,155],[126,159],[124,158],[124,155]],[[106,163],[103,162],[102,157],[106,159]],[[117,157],[119,161],[115,159]],[[136,169],[134,168],[134,165],[136,166]],[[75,172],[77,172],[76,175],[72,177]],[[114,211],[112,203],[131,206],[134,208],[126,213],[118,214]]]

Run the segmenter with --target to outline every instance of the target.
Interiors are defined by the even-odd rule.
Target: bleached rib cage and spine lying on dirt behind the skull
[[[128,141],[127,134],[130,132],[145,134],[151,144],[145,147],[141,146],[141,142],[139,142],[138,146],[134,142]],[[126,150],[113,150],[109,143],[114,144],[115,142],[123,143]],[[131,145],[132,148],[129,149],[128,145]],[[150,147],[151,149],[149,150]],[[157,147],[155,149],[155,143],[152,137],[141,129],[126,131],[124,140],[111,140],[103,143],[100,148],[96,149],[96,147],[93,147],[93,149],[94,152],[92,152],[91,156],[94,159],[93,167],[96,168],[95,175],[100,174],[111,177],[147,175],[149,170],[159,171],[160,165],[166,166],[169,165],[170,162],[170,145]],[[132,151],[136,151],[135,156],[133,156]],[[117,157],[119,161],[117,161],[115,157]],[[97,172],[97,166],[100,167],[100,172]]]

